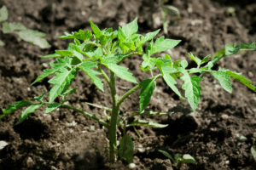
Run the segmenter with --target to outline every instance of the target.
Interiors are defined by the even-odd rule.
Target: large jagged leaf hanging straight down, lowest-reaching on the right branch
[[[201,96],[201,86],[199,82],[201,82],[201,77],[189,77],[189,73],[183,68],[178,67],[178,71],[183,73],[183,77],[181,79],[184,81],[183,90],[185,90],[185,97],[189,100],[189,105],[195,111]]]

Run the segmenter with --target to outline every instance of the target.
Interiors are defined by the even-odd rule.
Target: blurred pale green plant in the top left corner
[[[8,11],[5,6],[0,8],[0,23],[8,19]],[[49,43],[44,39],[45,34],[39,31],[26,29],[21,23],[3,22],[1,29],[4,34],[15,33],[26,42],[31,42],[40,48],[50,48]],[[0,40],[0,46],[4,46],[4,42]]]

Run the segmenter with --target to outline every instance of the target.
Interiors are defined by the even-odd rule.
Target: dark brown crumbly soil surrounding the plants
[[[226,43],[256,40],[255,0],[170,0],[168,4],[180,10],[182,19],[170,18],[171,26],[165,36],[182,42],[167,50],[166,54],[172,56],[172,61],[188,60],[189,68],[195,67],[189,52],[202,59],[224,48]],[[55,60],[42,60],[40,56],[67,48],[70,41],[57,38],[64,31],[90,30],[89,19],[101,29],[113,27],[116,30],[135,17],[138,17],[139,33],[146,34],[161,28],[161,23],[157,22],[161,19],[157,1],[151,0],[1,0],[0,7],[3,5],[9,11],[8,22],[21,22],[29,29],[43,31],[52,47],[41,49],[14,34],[1,33],[1,40],[6,44],[0,47],[2,108],[38,96],[45,90],[49,92],[50,77],[30,85]],[[236,8],[236,16],[226,13],[230,6]],[[164,32],[160,31],[157,37],[163,35]],[[137,77],[137,82],[149,77],[141,71],[141,63],[142,58],[138,56],[132,56],[124,63]],[[217,70],[218,66],[242,72],[244,77],[256,82],[256,52],[230,56],[218,62],[214,69]],[[240,82],[231,79],[231,83],[233,92],[229,94],[211,75],[203,77],[201,100],[197,110],[192,111],[186,100],[180,100],[165,82],[158,80],[147,110],[174,113],[142,117],[143,120],[169,124],[165,128],[136,127],[143,139],[139,139],[133,127],[127,129],[135,145],[135,169],[177,169],[158,150],[165,150],[172,157],[183,154],[195,157],[198,164],[184,165],[183,170],[256,169],[256,161],[250,152],[256,145],[256,94]],[[182,84],[183,81],[177,80],[177,88],[184,96]],[[107,86],[104,87],[106,93],[102,94],[89,77],[79,72],[72,87],[78,88],[76,94],[70,95],[70,105],[106,120],[102,110],[84,102],[110,107]],[[124,94],[133,84],[119,80],[117,87],[118,93]],[[139,110],[138,95],[139,91],[125,99],[120,114]],[[108,132],[89,117],[62,108],[46,115],[41,108],[15,126],[22,111],[15,111],[0,120],[0,141],[8,143],[0,150],[1,170],[128,169],[125,161],[108,162],[105,148],[108,146]],[[73,122],[76,123],[74,126],[68,126]],[[119,128],[119,139],[122,132]],[[242,142],[237,135],[247,140]]]

